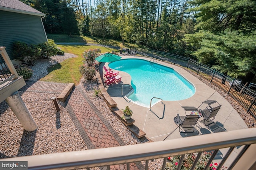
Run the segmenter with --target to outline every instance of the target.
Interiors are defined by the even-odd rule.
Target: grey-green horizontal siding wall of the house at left
[[[47,41],[40,16],[0,10],[0,46],[6,47],[11,60],[14,41],[39,44]]]

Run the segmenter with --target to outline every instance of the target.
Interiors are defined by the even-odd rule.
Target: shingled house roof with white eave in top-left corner
[[[0,10],[36,16],[45,16],[44,13],[24,4],[23,2],[20,2],[19,0],[0,0]]]

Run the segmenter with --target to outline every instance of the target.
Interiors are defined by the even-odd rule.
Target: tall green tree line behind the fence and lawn
[[[185,55],[222,73],[256,74],[255,0],[22,0],[47,33],[120,39]]]

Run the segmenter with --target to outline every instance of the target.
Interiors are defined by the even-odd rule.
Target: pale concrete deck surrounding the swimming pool
[[[145,57],[122,56],[122,59],[126,58],[150,60]],[[161,61],[157,61],[157,63],[174,68],[188,81],[194,84],[196,93],[191,98],[186,100],[163,101],[163,103],[158,102],[152,106],[150,110],[147,107],[139,106],[133,102],[129,102],[126,98],[122,97],[122,85],[130,85],[131,76],[126,72],[119,70],[118,71],[119,75],[122,77],[122,82],[119,84],[110,85],[107,89],[108,94],[117,103],[117,107],[119,109],[124,109],[125,106],[129,106],[132,109],[132,118],[136,121],[134,125],[144,131],[146,133],[146,137],[152,141],[163,141],[194,135],[203,135],[207,133],[216,133],[220,131],[232,131],[248,128],[237,111],[218,92],[179,66]],[[103,65],[108,68],[108,63],[101,63],[100,74],[103,72]],[[124,86],[123,94],[126,95],[128,92],[130,92],[129,87]],[[186,115],[182,106],[200,106],[199,108],[205,108],[207,105],[202,105],[202,102],[206,100],[216,100],[219,104],[222,105],[218,114],[216,115],[215,123],[209,127],[206,127],[204,123],[201,122],[203,120],[201,117],[196,124],[196,130],[194,133],[180,133],[178,126],[173,121],[173,118],[177,115],[177,113],[183,116]]]

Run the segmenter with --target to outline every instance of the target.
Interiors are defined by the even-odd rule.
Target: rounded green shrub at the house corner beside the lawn
[[[50,59],[50,57],[54,56],[58,52],[58,47],[56,44],[51,42],[44,42],[38,44],[41,49],[40,57],[43,59]]]

